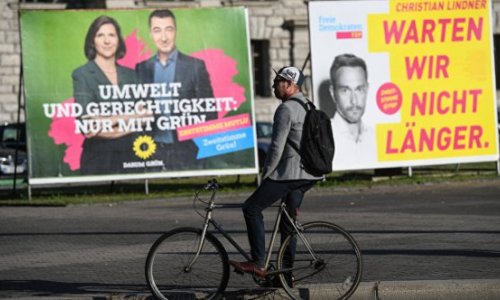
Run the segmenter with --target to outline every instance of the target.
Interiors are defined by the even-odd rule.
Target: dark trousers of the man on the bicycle
[[[263,267],[266,258],[266,241],[264,218],[262,211],[273,205],[279,199],[284,199],[287,212],[295,220],[297,211],[302,204],[305,192],[307,192],[316,181],[312,180],[289,180],[275,181],[265,179],[255,192],[243,204],[243,215],[248,230],[250,242],[250,254],[253,261],[259,267]],[[292,231],[292,225],[282,216],[280,223],[281,241]],[[291,267],[295,257],[296,241],[290,243],[285,253],[285,263]],[[287,263],[288,262],[288,263]]]

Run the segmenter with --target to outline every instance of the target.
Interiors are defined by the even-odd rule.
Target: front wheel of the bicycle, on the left
[[[177,228],[162,235],[146,260],[146,281],[163,300],[218,299],[229,280],[227,252],[212,234],[200,245],[201,229]]]

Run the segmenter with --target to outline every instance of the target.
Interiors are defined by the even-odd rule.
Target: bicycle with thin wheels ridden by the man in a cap
[[[245,259],[251,260],[212,216],[216,208],[241,207],[241,204],[216,204],[218,189],[214,179],[195,193],[193,208],[204,219],[202,228],[175,228],[160,236],[149,250],[146,281],[156,298],[212,300],[222,296],[229,281],[229,258],[225,247],[208,230],[210,225]],[[208,201],[199,198],[203,190],[211,192]],[[197,202],[206,205],[205,215],[197,211]],[[348,299],[356,290],[363,270],[361,251],[354,238],[330,222],[300,224],[287,213],[284,202],[278,207],[266,255],[268,275],[265,280],[253,276],[254,281],[261,286],[269,286],[279,279],[285,292],[294,300],[309,299],[315,295]],[[293,232],[279,247],[276,261],[271,262],[282,216],[292,222]],[[292,268],[284,268],[285,249],[294,237],[297,241],[294,264]],[[290,272],[293,272],[293,283],[287,281],[285,276]]]

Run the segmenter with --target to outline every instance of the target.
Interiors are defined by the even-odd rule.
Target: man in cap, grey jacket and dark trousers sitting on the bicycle
[[[264,268],[266,249],[262,211],[279,199],[284,199],[288,213],[295,218],[305,192],[323,178],[307,173],[301,165],[300,154],[290,145],[300,145],[306,111],[300,103],[288,100],[294,98],[304,103],[309,101],[301,92],[304,74],[296,67],[283,67],[274,72],[274,95],[282,103],[274,114],[272,139],[263,167],[262,184],[243,204],[252,261],[229,261],[237,271],[252,273],[261,278],[267,276]],[[291,225],[282,218],[282,242],[289,232]],[[285,268],[293,266],[295,248],[296,242],[293,242],[286,250]],[[289,285],[293,286],[293,275],[289,273],[285,277]]]

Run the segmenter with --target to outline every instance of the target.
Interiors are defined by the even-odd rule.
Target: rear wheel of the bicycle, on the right
[[[328,222],[304,224],[302,234],[307,243],[294,233],[278,252],[278,270],[291,270],[279,274],[286,293],[295,300],[348,299],[356,290],[363,270],[361,251],[354,238]],[[286,249],[294,240],[297,247],[291,263]]]

